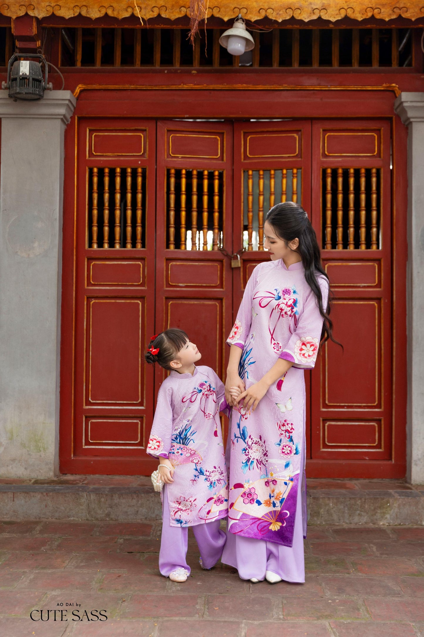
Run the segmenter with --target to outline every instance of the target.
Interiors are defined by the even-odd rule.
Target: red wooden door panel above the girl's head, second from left
[[[201,364],[221,377],[232,326],[224,255],[233,238],[232,192],[232,122],[158,122],[156,330],[184,329]],[[158,386],[164,372],[156,372]]]

